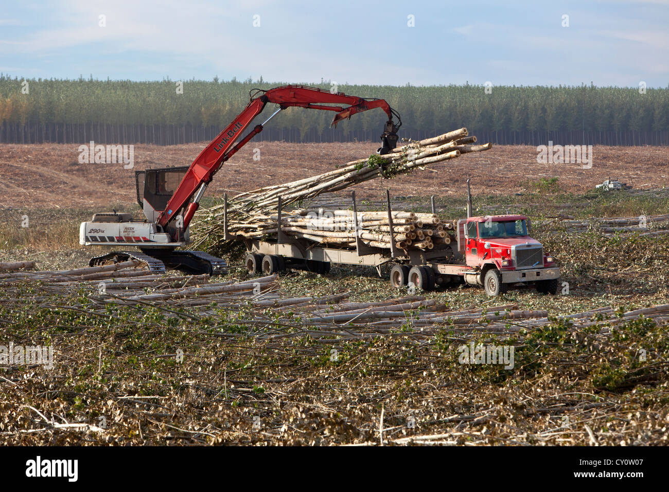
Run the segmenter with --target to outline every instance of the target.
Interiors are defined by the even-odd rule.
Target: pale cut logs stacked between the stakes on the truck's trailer
[[[356,247],[356,224],[351,210],[294,210],[282,214],[281,230],[288,236],[338,248]],[[456,240],[457,220],[442,220],[436,214],[391,212],[358,212],[358,234],[366,246],[395,247],[407,250],[431,250]],[[245,238],[274,238],[278,233],[278,215],[254,214],[246,220],[229,221],[230,234]],[[391,234],[392,232],[392,234]]]

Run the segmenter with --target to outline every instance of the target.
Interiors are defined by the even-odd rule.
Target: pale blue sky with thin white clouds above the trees
[[[667,87],[669,0],[3,0],[0,72]]]

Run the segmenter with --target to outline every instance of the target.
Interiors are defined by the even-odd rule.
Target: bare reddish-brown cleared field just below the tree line
[[[136,145],[134,169],[121,164],[80,164],[77,145],[0,145],[0,208],[66,208],[132,202],[134,171],[164,165],[189,165],[204,143],[157,147]],[[254,149],[260,161],[254,161]],[[374,153],[376,143],[250,143],[216,175],[207,193],[222,195],[283,183],[333,169]],[[522,193],[529,181],[557,177],[564,191],[583,193],[608,177],[635,188],[662,187],[669,181],[668,147],[595,147],[593,166],[538,164],[529,146],[493,147],[462,155],[434,169],[356,187],[361,197],[462,195],[466,177],[477,194]],[[346,191],[343,193],[348,194]]]

